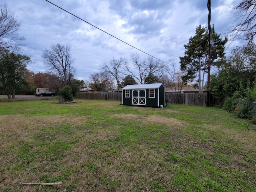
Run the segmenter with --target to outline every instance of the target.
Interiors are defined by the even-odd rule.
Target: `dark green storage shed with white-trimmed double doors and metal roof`
[[[127,85],[122,90],[123,105],[164,106],[164,86],[162,83]]]

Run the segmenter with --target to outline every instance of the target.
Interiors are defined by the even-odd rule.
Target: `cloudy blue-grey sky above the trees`
[[[49,0],[86,22],[161,60],[184,55],[184,44],[196,26],[208,24],[207,0]],[[228,36],[230,10],[240,0],[212,0],[214,30]],[[88,79],[100,65],[115,58],[129,60],[131,53],[147,55],[64,12],[46,0],[8,0],[8,7],[22,21],[24,53],[32,55],[28,69],[47,70],[42,51],[53,44],[70,44],[77,79]],[[236,42],[227,43],[227,53]]]

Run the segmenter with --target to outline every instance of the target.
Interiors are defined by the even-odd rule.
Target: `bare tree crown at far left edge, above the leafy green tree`
[[[16,50],[24,37],[18,36],[21,22],[5,3],[0,4],[0,53],[3,50]]]

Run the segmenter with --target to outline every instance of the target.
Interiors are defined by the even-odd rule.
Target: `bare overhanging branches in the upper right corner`
[[[242,0],[234,7],[232,13],[233,34],[239,39],[246,39],[250,44],[256,35],[256,0]]]

